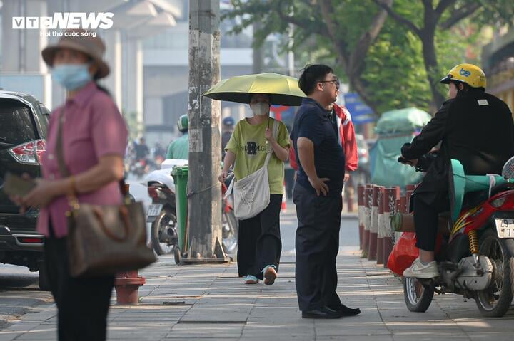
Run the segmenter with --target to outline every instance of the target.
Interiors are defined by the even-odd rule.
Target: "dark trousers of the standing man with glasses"
[[[300,310],[337,308],[341,304],[336,293],[336,258],[343,209],[341,192],[316,196],[297,182],[293,201],[298,217],[296,294]]]

